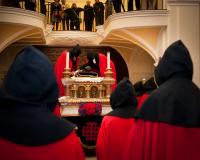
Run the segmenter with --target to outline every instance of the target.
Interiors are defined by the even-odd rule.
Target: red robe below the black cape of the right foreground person
[[[138,120],[128,136],[124,160],[197,160],[200,128]]]

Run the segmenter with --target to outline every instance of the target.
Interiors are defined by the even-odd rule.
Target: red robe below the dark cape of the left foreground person
[[[85,156],[75,132],[55,143],[23,146],[0,139],[1,160],[84,160]]]

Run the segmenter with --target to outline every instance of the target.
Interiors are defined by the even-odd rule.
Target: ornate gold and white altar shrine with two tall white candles
[[[99,115],[105,115],[111,111],[110,94],[115,79],[113,78],[113,72],[110,68],[110,52],[107,52],[105,77],[98,77],[98,75],[90,73],[80,73],[78,76],[72,77],[71,75],[71,69],[69,68],[69,52],[66,52],[66,68],[64,69],[62,78],[62,83],[65,87],[65,96],[59,98],[62,116],[84,115],[80,107],[85,104],[89,104],[89,109],[91,110],[94,110],[94,108],[92,108],[93,104],[97,104],[94,107],[98,105],[101,106],[97,111]]]

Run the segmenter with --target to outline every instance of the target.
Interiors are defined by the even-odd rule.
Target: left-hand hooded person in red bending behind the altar
[[[67,51],[63,51],[58,57],[58,60],[55,63],[55,74],[56,74],[56,79],[59,87],[59,97],[64,96],[65,94],[65,88],[64,85],[62,84],[62,78],[63,78],[63,72],[66,68],[66,53]],[[79,55],[81,54],[81,48],[77,44],[74,48],[72,48],[69,52],[69,67],[71,69],[71,72],[74,72],[78,69],[79,63],[80,63],[80,58]],[[56,105],[56,109],[54,112],[56,115],[60,115],[60,109],[59,106]]]

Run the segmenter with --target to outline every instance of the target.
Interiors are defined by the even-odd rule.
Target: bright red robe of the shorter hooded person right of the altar
[[[133,118],[105,116],[99,130],[96,153],[98,160],[121,160]]]

